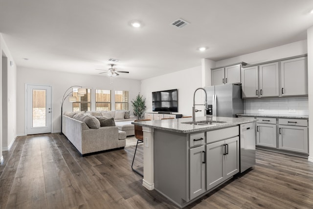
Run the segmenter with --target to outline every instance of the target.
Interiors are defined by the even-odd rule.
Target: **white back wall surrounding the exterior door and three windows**
[[[103,75],[85,75],[73,74],[60,71],[38,70],[20,68],[17,70],[17,90],[18,104],[17,114],[17,134],[25,135],[25,84],[47,85],[52,86],[52,133],[61,131],[61,101],[65,91],[74,85],[91,88],[91,110],[95,111],[95,89],[104,90],[124,90],[129,91],[129,107],[131,113],[133,108],[131,101],[140,92],[140,81],[113,78],[113,83],[110,84],[110,79]],[[112,110],[114,110],[114,92],[112,91]],[[69,93],[69,92],[68,92]],[[65,100],[63,104],[63,112],[72,110],[72,103]]]

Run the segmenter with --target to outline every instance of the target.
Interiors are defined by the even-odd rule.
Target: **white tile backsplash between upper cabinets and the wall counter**
[[[308,96],[244,100],[246,114],[309,115]]]

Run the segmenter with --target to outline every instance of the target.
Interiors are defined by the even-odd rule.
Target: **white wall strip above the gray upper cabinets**
[[[293,42],[291,44],[268,48],[261,51],[256,51],[241,56],[220,60],[216,62],[216,67],[230,65],[238,62],[245,62],[247,64],[257,64],[286,57],[306,54],[308,51],[307,40]]]

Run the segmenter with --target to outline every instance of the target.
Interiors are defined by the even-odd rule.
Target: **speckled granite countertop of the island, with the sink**
[[[216,116],[203,116],[196,117],[196,121],[213,120],[213,121],[225,121],[224,123],[212,124],[212,125],[193,125],[185,124],[181,122],[192,121],[191,117],[167,119],[167,120],[148,120],[132,122],[135,125],[141,125],[144,127],[161,129],[165,131],[171,131],[176,133],[193,133],[200,131],[210,131],[214,129],[221,129],[230,126],[235,126],[243,123],[256,121],[254,118],[238,118],[238,117],[216,117]]]

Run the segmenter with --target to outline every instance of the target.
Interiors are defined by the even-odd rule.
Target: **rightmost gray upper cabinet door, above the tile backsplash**
[[[281,62],[281,95],[308,94],[308,61],[301,57]]]

